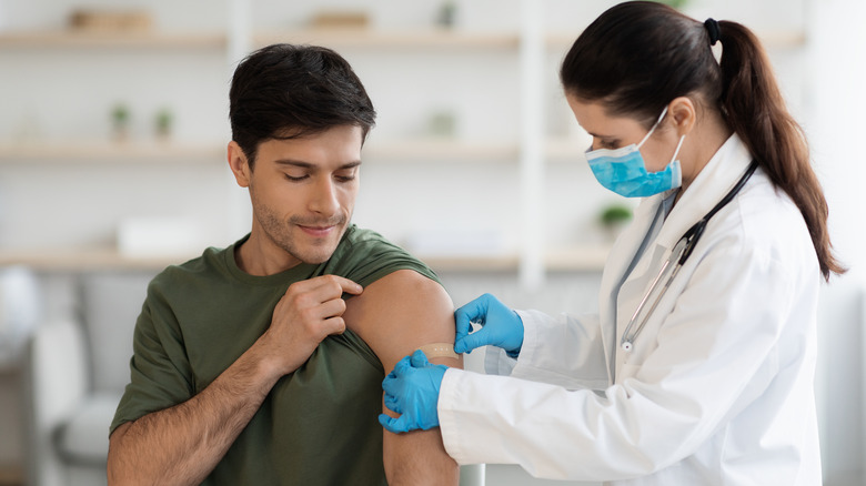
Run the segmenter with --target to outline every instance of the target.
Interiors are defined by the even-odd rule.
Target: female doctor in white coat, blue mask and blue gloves
[[[402,415],[380,421],[440,426],[459,463],[537,477],[819,485],[816,305],[822,276],[844,269],[757,39],[622,3],[575,41],[561,80],[598,182],[643,198],[605,266],[600,315],[483,295],[457,310],[454,347],[492,346],[489,372],[504,376],[415,352],[383,382]]]

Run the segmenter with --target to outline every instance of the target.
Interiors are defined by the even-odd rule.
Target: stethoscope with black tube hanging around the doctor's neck
[[[658,305],[658,301],[662,300],[662,296],[667,291],[667,287],[671,286],[671,282],[676,277],[676,274],[679,273],[679,269],[683,267],[683,264],[688,260],[688,256],[692,254],[692,251],[695,249],[695,245],[697,244],[698,240],[701,240],[701,235],[704,233],[704,229],[706,227],[706,223],[709,221],[711,217],[713,217],[718,210],[724,207],[727,203],[731,202],[731,200],[734,199],[734,196],[737,195],[741,189],[743,189],[744,185],[746,185],[746,182],[748,181],[748,178],[752,176],[752,174],[755,172],[755,169],[757,169],[757,161],[753,160],[752,163],[748,165],[748,169],[746,169],[746,173],[743,174],[742,178],[739,178],[739,181],[737,181],[737,184],[728,191],[727,194],[725,194],[724,198],[722,198],[722,201],[719,201],[715,206],[713,206],[712,210],[709,210],[708,213],[704,215],[697,223],[692,225],[692,227],[686,231],[683,236],[679,239],[678,242],[674,245],[674,249],[671,251],[671,256],[667,257],[664,265],[662,265],[662,270],[658,271],[658,275],[656,275],[655,280],[653,280],[653,283],[650,285],[650,290],[644,295],[644,298],[641,300],[641,303],[637,305],[637,308],[634,311],[634,314],[632,314],[632,318],[628,320],[628,325],[625,326],[625,332],[623,333],[622,340],[620,340],[620,346],[622,350],[626,353],[630,353],[632,348],[634,347],[634,341],[637,338],[637,335],[641,334],[641,331],[644,328],[644,325],[646,325],[646,321],[650,318],[650,315],[655,311],[655,307]],[[674,263],[676,262],[676,263]],[[672,263],[673,266],[672,266]],[[658,287],[658,283],[662,281],[662,279],[668,273],[669,269],[669,276],[665,281],[665,284],[663,287]],[[635,322],[637,321],[637,316],[641,315],[642,311],[646,306],[647,301],[650,301],[650,296],[656,293],[656,290],[659,292],[657,293],[655,301],[653,302],[652,307],[644,313],[643,318],[641,320],[641,323],[634,327]]]

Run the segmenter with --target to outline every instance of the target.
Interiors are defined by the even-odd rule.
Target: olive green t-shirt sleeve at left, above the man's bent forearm
[[[125,422],[183,403],[194,394],[182,334],[159,287],[155,280],[149,285],[148,297],[135,323],[130,383],[109,434]]]

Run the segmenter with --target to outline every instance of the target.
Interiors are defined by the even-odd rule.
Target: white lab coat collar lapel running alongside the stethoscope
[[[745,173],[749,162],[752,155],[748,149],[734,133],[709,159],[671,210],[656,242],[666,249],[672,249],[693,224],[722,201],[722,198]]]

